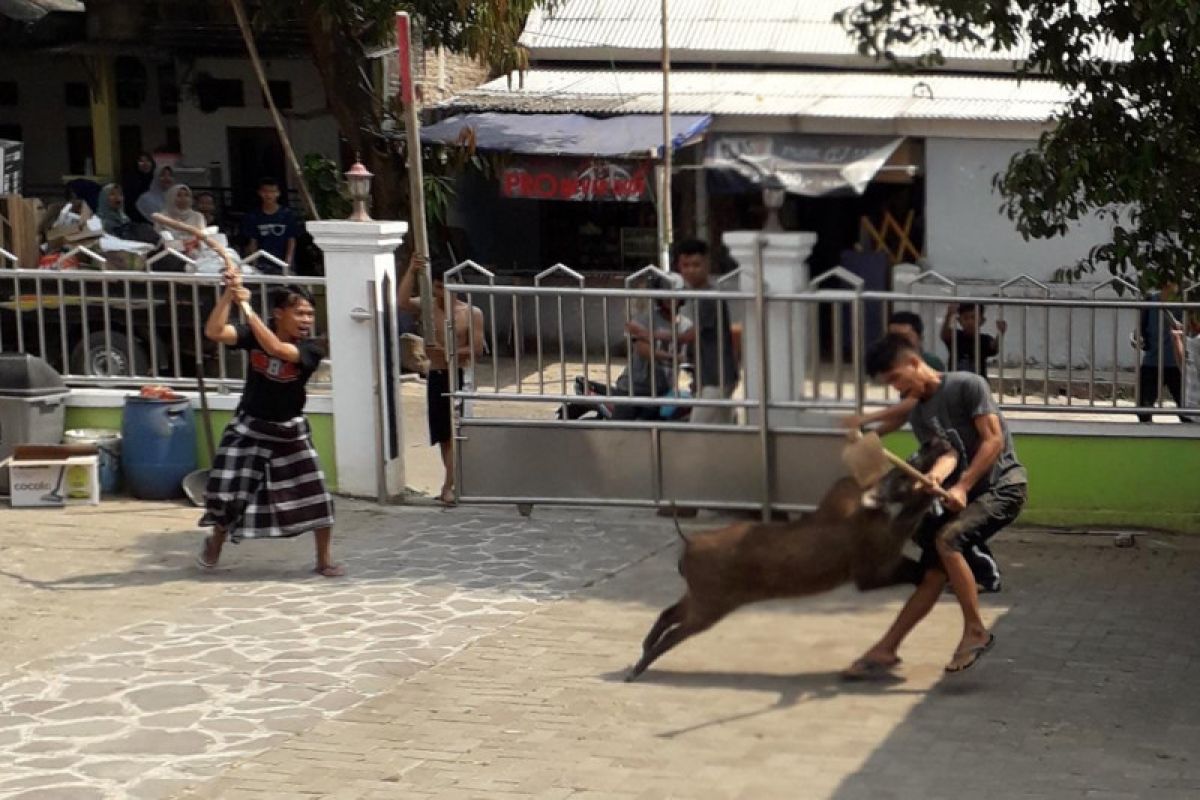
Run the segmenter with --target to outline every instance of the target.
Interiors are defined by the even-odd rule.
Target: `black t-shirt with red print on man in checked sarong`
[[[263,350],[250,325],[235,325],[239,350],[250,353],[250,372],[239,409],[270,422],[287,422],[304,414],[305,384],[320,366],[325,353],[316,339],[296,343],[300,363],[275,359]]]

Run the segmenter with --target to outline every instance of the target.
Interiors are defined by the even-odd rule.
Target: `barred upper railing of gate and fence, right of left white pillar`
[[[1174,354],[1172,326],[1188,329],[1193,320],[1200,321],[1200,302],[1146,300],[1121,279],[1079,288],[1050,287],[1020,276],[980,289],[926,272],[907,293],[883,293],[864,291],[857,277],[835,269],[815,277],[808,291],[766,293],[758,299],[752,276],[740,270],[707,290],[646,287],[647,279],[661,276],[658,269],[647,267],[630,276],[624,288],[588,288],[582,275],[556,265],[539,275],[533,287],[514,287],[498,284],[493,273],[474,263],[456,267],[448,275],[446,302],[458,299],[478,306],[492,347],[487,356],[464,361],[469,383],[456,385],[455,397],[492,420],[551,417],[566,404],[631,422],[667,421],[653,409],[680,405],[724,408],[746,422],[760,414],[794,420],[811,411],[852,413],[894,399],[889,389],[866,379],[864,353],[869,338],[886,331],[893,312],[912,309],[924,320],[925,349],[952,367],[985,374],[1006,411],[1132,421],[1133,415],[1174,414],[1176,407],[1200,409],[1200,397],[1180,397],[1178,391],[1187,384],[1188,371],[1200,367],[1189,353],[1177,371],[1171,367],[1174,355],[1147,360],[1147,353]],[[757,345],[751,345],[743,353],[742,391],[698,397],[703,379],[689,393],[680,367],[703,362],[703,344],[682,347],[679,338],[695,321],[697,303],[714,297],[724,301],[716,303],[716,341],[737,327],[743,343],[766,337],[762,354],[768,374],[760,380],[755,365],[762,357]],[[638,318],[644,321],[658,303],[682,306],[688,323],[664,324],[661,349],[653,349],[648,359],[650,386],[637,390],[634,381],[624,380],[611,395],[576,393],[576,377],[601,386],[618,384],[634,342],[628,330],[617,336],[612,331]],[[949,303],[977,305],[994,321],[952,336],[946,347],[941,329]],[[1159,321],[1150,351],[1130,343],[1145,315]],[[757,323],[743,326],[755,319],[762,319],[761,331]],[[454,335],[452,320],[449,327]],[[474,330],[466,332],[472,353],[476,350],[474,336]],[[995,338],[992,357],[984,355],[988,337]],[[666,353],[676,355],[666,357]],[[655,368],[660,366],[666,369]],[[666,386],[659,385],[664,374]]]

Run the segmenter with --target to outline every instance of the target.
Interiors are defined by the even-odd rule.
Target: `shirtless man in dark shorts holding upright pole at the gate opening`
[[[409,312],[418,319],[421,317],[421,302],[413,296],[413,288],[416,278],[426,269],[425,260],[413,254],[408,263],[408,270],[400,281],[400,307]],[[454,435],[454,416],[451,414],[451,399],[446,397],[450,392],[450,362],[446,359],[445,330],[445,283],[443,277],[449,264],[434,263],[431,270],[433,279],[433,336],[434,342],[425,343],[425,354],[430,359],[430,372],[426,375],[426,409],[430,420],[430,444],[442,449],[442,463],[445,465],[445,480],[442,482],[442,492],[438,499],[443,505],[450,506],[455,503],[454,493],[454,463],[451,461],[454,447],[451,437]],[[460,359],[468,365],[484,354],[484,312],[475,306],[469,306],[457,297],[454,299],[454,331],[455,353],[454,361],[457,365]],[[474,343],[474,351],[472,351]],[[458,386],[462,387],[462,367],[458,367]]]

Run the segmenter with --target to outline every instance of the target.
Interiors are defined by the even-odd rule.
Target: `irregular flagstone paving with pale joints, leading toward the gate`
[[[348,579],[235,582],[0,679],[0,796],[169,796],[670,541],[562,516],[358,516],[377,531]]]

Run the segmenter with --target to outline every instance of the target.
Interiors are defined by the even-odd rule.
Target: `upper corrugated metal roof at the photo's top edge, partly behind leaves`
[[[833,22],[852,0],[671,0],[672,61],[791,64],[792,66],[876,65]],[[661,44],[660,0],[565,0],[553,12],[529,16],[521,42],[534,60],[647,60]],[[898,48],[916,56],[922,48]],[[947,43],[947,66],[1006,71],[1028,56],[1028,46],[992,52]],[[1128,59],[1130,44],[1106,43],[1097,55]]]

